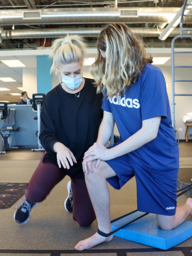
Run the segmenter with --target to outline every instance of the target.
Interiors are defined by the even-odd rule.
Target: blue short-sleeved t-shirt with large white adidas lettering
[[[179,169],[179,148],[171,126],[166,83],[158,67],[147,63],[125,95],[110,99],[105,95],[102,109],[113,114],[121,141],[140,130],[143,120],[162,116],[156,139],[128,155],[141,167],[153,171],[167,173]]]

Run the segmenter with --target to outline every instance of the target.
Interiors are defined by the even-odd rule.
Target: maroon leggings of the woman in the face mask
[[[59,166],[43,163],[43,157],[25,189],[25,196],[29,202],[42,202],[49,195],[52,188],[66,176]],[[96,217],[85,180],[71,178],[71,189],[73,195],[73,219],[80,226],[88,227]]]

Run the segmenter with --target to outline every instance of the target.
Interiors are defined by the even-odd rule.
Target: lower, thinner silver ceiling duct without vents
[[[3,39],[25,39],[25,38],[57,38],[67,34],[78,34],[85,37],[96,37],[102,28],[47,28],[47,29],[14,29],[4,30],[0,38]],[[131,28],[138,37],[158,37],[163,28]],[[184,31],[186,35],[192,35],[192,31]],[[180,35],[180,28],[175,28],[170,37]]]

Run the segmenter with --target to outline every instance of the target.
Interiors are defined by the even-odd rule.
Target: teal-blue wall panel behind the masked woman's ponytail
[[[52,89],[51,60],[47,55],[37,56],[37,93],[45,93]]]

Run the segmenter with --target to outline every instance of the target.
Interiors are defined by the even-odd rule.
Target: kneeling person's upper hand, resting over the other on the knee
[[[89,159],[89,156],[91,156]],[[85,160],[86,159],[86,160]],[[89,148],[87,150],[87,152],[85,152],[84,154],[84,160],[86,163],[89,163],[93,160],[102,160],[102,161],[107,161],[110,160],[110,149],[107,149],[105,146],[103,146],[103,144],[100,143],[94,143],[93,146],[91,148]],[[100,161],[97,161],[95,167],[98,168],[100,164]]]

